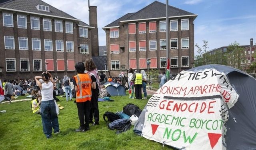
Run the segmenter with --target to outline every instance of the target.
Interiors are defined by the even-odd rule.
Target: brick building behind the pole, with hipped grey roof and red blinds
[[[129,68],[166,68],[166,5],[155,1],[138,12],[128,13],[103,29],[106,32],[110,75]],[[194,63],[194,19],[191,12],[168,6],[170,71],[177,74]]]

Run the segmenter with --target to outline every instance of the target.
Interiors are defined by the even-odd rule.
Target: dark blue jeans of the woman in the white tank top
[[[46,138],[50,138],[52,136],[52,128],[54,133],[60,131],[54,100],[42,101],[40,107],[44,134]]]

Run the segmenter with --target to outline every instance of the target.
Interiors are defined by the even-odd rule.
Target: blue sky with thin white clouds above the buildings
[[[89,24],[88,0],[43,1]],[[154,1],[90,0],[90,6],[97,6],[99,46],[106,45],[104,26]],[[166,3],[166,0],[158,1]],[[256,0],[169,0],[169,5],[198,14],[194,20],[194,43],[200,47],[202,40],[208,41],[208,50],[234,41],[250,45],[250,38],[256,43]],[[197,48],[194,51],[196,55]]]

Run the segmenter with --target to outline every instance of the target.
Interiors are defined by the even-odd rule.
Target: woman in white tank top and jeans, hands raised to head
[[[42,79],[44,83],[39,80]],[[58,116],[56,113],[56,106],[53,99],[52,91],[54,89],[54,80],[50,72],[43,72],[42,76],[35,77],[36,83],[41,90],[42,100],[41,100],[41,116],[43,131],[46,138],[52,137],[52,128],[54,129],[54,134],[60,133]],[[49,81],[50,80],[50,81]]]

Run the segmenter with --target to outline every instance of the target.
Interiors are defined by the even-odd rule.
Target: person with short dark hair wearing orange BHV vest
[[[92,97],[92,79],[89,74],[84,73],[84,63],[78,62],[75,66],[78,74],[74,76],[74,86],[76,90],[76,106],[78,110],[78,118],[80,126],[76,132],[85,132],[90,130],[89,116],[90,116],[90,101]]]

